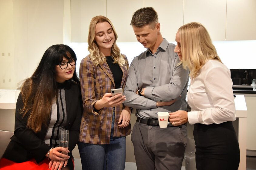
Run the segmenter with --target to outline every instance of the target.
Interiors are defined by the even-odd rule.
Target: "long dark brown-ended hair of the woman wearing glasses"
[[[27,128],[35,133],[41,131],[42,124],[46,125],[50,117],[52,100],[57,98],[58,92],[55,68],[62,62],[63,57],[77,61],[75,52],[69,46],[52,45],[43,54],[33,75],[22,84],[21,94],[24,106],[20,112],[23,117],[28,117]],[[72,81],[80,84],[76,69],[73,77],[67,80],[69,83]]]

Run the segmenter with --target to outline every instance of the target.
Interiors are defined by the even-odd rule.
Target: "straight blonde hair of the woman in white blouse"
[[[178,29],[180,34],[180,50],[183,68],[190,70],[190,76],[195,78],[198,72],[209,59],[221,62],[220,57],[211,41],[206,28],[198,23],[191,22]]]

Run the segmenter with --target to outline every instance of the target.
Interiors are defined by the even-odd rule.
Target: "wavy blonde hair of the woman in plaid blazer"
[[[96,43],[96,41],[94,41],[96,24],[101,23],[101,22],[108,22],[111,25],[113,33],[115,35],[115,41],[113,43],[113,46],[111,47],[111,56],[114,59],[114,63],[118,63],[119,66],[125,65],[125,62],[126,62],[124,59],[125,57],[121,55],[120,49],[116,45],[116,40],[117,40],[116,30],[113,27],[113,24],[111,23],[111,21],[102,15],[93,17],[93,19],[89,25],[88,51],[90,52],[89,56],[90,56],[91,60],[93,61],[95,66],[106,62],[106,57],[99,50],[99,47],[98,47],[98,44]]]

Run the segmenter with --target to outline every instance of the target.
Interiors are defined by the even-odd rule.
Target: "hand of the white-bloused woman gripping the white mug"
[[[173,126],[179,126],[188,122],[187,111],[176,111],[169,113],[169,120]]]

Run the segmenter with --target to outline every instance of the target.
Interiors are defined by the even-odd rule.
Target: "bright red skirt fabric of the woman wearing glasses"
[[[49,160],[45,158],[39,164],[36,163],[35,159],[31,159],[26,162],[16,163],[8,159],[0,159],[0,169],[1,170],[49,170]]]

